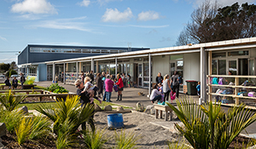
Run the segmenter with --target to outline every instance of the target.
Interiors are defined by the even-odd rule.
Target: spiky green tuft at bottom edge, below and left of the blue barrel
[[[104,143],[108,141],[104,135],[105,129],[102,131],[84,131],[84,142],[88,149],[102,149]]]

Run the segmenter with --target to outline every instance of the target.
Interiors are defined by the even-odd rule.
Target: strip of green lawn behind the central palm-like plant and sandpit
[[[116,105],[116,104],[113,104],[113,103],[110,103],[110,102],[102,102],[102,104],[100,104],[100,102],[98,100],[94,100],[94,102],[100,106],[102,109],[105,107],[105,106],[119,106],[119,105]],[[38,105],[51,105],[53,107],[55,107],[57,105],[56,102],[45,102],[45,103],[22,103],[22,104],[19,104],[18,107],[21,107],[21,106],[26,106],[28,110],[35,110],[34,108]],[[122,106],[124,109],[132,109],[132,107],[130,106]],[[115,109],[115,108],[113,108]]]

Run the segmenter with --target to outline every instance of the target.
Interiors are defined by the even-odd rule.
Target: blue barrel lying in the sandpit
[[[124,127],[123,114],[115,113],[108,115],[108,129],[120,129]]]

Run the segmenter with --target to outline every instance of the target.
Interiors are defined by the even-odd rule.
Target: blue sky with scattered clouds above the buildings
[[[166,48],[203,0],[0,0],[0,62],[27,44]],[[223,6],[256,0],[218,0]]]

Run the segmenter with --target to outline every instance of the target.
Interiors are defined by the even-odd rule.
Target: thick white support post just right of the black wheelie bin
[[[201,80],[201,98],[199,99],[199,105],[201,105],[202,100],[205,101],[205,103],[207,102],[207,96],[206,96],[206,86],[207,86],[207,82],[206,82],[206,52],[205,52],[205,48],[201,47],[200,49],[200,71],[201,71],[201,76],[200,76],[200,80]]]

